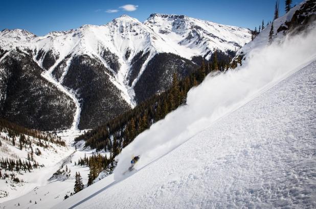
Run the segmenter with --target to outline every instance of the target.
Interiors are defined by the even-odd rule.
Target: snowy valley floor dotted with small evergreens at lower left
[[[64,144],[56,144],[42,138],[38,139],[23,134],[19,137],[12,137],[12,134],[8,134],[7,130],[4,128],[0,136],[2,142],[0,147],[2,153],[0,200],[5,202],[17,197],[23,197],[24,201],[16,203],[15,206],[20,205],[24,207],[27,205],[25,204],[25,201],[27,201],[38,208],[44,208],[47,204],[53,205],[62,202],[65,195],[71,196],[74,193],[75,174],[77,172],[80,173],[83,184],[87,184],[89,168],[87,166],[79,166],[79,159],[89,158],[97,154],[109,157],[107,152],[96,152],[96,150],[84,148],[84,142],[74,145],[74,138],[81,135],[84,131],[82,133],[79,130],[59,132],[57,139]],[[30,140],[31,145],[26,142],[21,149],[21,136],[25,136],[26,141]],[[14,145],[12,144],[13,138],[15,138]],[[50,138],[48,137],[48,139]],[[39,150],[39,154],[37,150]],[[14,165],[13,170],[10,167],[5,169],[3,162],[6,159],[9,159],[9,161],[21,160],[21,162],[31,164],[36,162],[39,166],[31,169],[28,167],[26,170],[23,170],[23,166]],[[17,169],[18,166],[19,169]],[[8,177],[3,178],[5,174],[8,174]],[[14,174],[14,177],[19,179],[18,182],[14,181],[11,174]]]

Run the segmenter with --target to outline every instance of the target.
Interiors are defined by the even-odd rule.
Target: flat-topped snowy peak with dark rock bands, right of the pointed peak
[[[249,42],[248,29],[217,24],[185,15],[151,14],[144,22],[180,56],[210,58],[214,49],[236,50]]]

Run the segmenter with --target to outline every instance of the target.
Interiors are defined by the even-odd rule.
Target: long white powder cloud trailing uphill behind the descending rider
[[[207,76],[201,85],[189,91],[186,106],[153,124],[122,150],[116,157],[115,179],[124,178],[122,173],[130,166],[132,155],[141,155],[135,168],[142,169],[315,60],[315,37],[313,25],[304,34],[276,39],[257,50],[253,48],[243,65],[235,70]]]

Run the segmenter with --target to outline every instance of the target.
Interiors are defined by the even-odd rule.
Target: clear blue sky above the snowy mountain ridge
[[[295,5],[302,1],[292,2]],[[4,0],[0,5],[0,30],[19,28],[41,36],[51,31],[76,29],[83,24],[106,24],[122,14],[144,21],[151,13],[184,14],[221,24],[254,29],[261,24],[262,19],[265,22],[272,20],[274,5],[275,0]],[[284,14],[284,0],[280,0],[280,14]]]

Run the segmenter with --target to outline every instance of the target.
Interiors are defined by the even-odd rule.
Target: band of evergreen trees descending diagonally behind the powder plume
[[[210,72],[224,72],[231,67],[231,60],[235,56],[233,51],[224,53],[216,49],[210,60],[201,58],[200,67],[180,80],[176,73],[172,77],[171,87],[153,95],[141,102],[137,107],[129,110],[99,127],[89,130],[84,135],[75,139],[85,141],[85,146],[96,148],[97,151],[110,152],[110,157],[93,155],[89,158],[79,159],[79,166],[86,165],[90,168],[88,185],[101,171],[111,173],[116,166],[115,156],[125,146],[134,140],[140,133],[148,129],[153,123],[163,119],[168,113],[179,106],[186,104],[188,91],[199,85]]]

